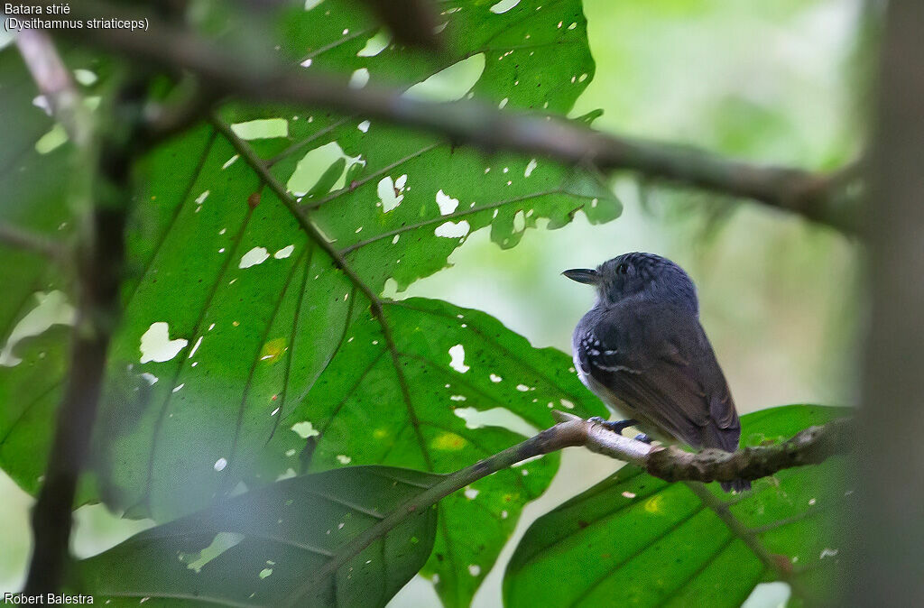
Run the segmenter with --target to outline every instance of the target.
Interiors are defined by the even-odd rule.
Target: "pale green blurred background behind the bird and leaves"
[[[604,131],[808,169],[857,155],[875,42],[874,14],[860,0],[584,0],[584,10],[597,71],[572,116],[602,108],[594,126]],[[578,212],[559,230],[529,231],[514,249],[499,249],[480,230],[450,257],[452,268],[386,294],[485,310],[534,346],[570,352],[592,294],[559,273],[654,251],[697,282],[702,322],[740,412],[856,402],[864,318],[856,243],[756,204],[632,176],[614,176],[612,186],[625,207],[614,222],[591,226]],[[565,451],[552,487],[524,510],[475,605],[499,604],[506,560],[536,517],[616,466]],[[2,592],[18,590],[24,577],[31,499],[3,473],[0,496]],[[81,507],[74,551],[97,553],[148,525]],[[751,600],[775,605],[784,597],[772,584]],[[435,602],[429,583],[415,578],[393,605]]]

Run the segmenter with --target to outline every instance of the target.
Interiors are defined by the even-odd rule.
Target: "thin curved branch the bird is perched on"
[[[561,421],[552,428],[494,456],[484,458],[470,467],[447,475],[444,480],[395,508],[314,571],[310,578],[286,598],[284,605],[298,604],[319,581],[332,575],[407,517],[431,508],[449,494],[492,473],[510,468],[527,458],[550,454],[565,447],[584,446],[592,452],[644,468],[651,475],[663,480],[731,481],[756,480],[784,468],[819,464],[830,456],[846,453],[852,445],[849,432],[851,422],[842,419],[798,432],[781,444],[746,447],[731,454],[712,449],[691,454],[674,446],[644,444],[614,433],[597,422],[583,420],[565,412],[554,411],[553,414]],[[696,493],[699,495],[700,492]],[[759,557],[761,560],[766,558],[772,562],[772,556]]]

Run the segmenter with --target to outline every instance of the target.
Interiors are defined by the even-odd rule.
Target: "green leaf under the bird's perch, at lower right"
[[[742,437],[783,441],[847,411],[764,409],[742,417]],[[840,560],[844,483],[838,457],[785,469],[739,495],[699,484],[711,497],[703,501],[685,484],[626,466],[529,528],[507,566],[505,605],[739,606],[758,583],[781,579],[796,599],[818,602]],[[728,520],[707,502],[726,505],[719,511]]]

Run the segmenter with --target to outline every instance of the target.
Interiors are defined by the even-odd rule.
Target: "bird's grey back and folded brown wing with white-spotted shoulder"
[[[737,448],[735,403],[695,316],[616,307],[578,326],[576,361],[593,388],[687,444]]]

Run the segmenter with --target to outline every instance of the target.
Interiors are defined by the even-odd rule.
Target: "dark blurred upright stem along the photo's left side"
[[[95,159],[93,205],[81,218],[76,261],[78,318],[55,436],[42,490],[32,510],[34,548],[24,590],[27,595],[41,597],[56,592],[65,579],[71,509],[90,451],[110,336],[119,316],[130,169],[134,154],[139,152],[135,136],[141,125],[140,100],[146,86],[145,76],[135,73],[116,95],[116,117]]]

